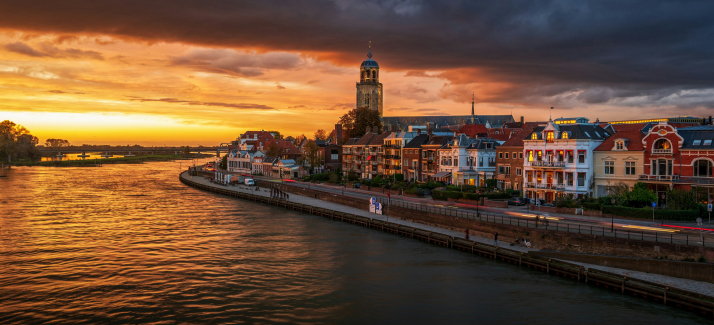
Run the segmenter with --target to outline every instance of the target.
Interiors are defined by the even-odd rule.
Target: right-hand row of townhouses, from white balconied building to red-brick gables
[[[714,198],[714,127],[696,123],[589,123],[556,119],[514,135],[497,148],[501,188],[553,202],[573,195],[612,194],[615,186],[644,182],[666,204],[667,190]]]

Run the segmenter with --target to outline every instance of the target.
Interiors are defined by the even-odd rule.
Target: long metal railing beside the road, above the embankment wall
[[[447,215],[447,216],[452,216],[452,217],[457,217],[457,218],[466,218],[466,219],[471,219],[471,220],[479,220],[479,221],[485,221],[485,222],[507,224],[507,225],[511,225],[511,226],[519,226],[519,227],[527,227],[527,228],[543,229],[543,230],[551,230],[551,231],[562,231],[562,232],[568,232],[568,233],[578,233],[578,234],[603,236],[603,237],[611,237],[611,238],[622,238],[622,239],[629,239],[629,240],[643,240],[643,241],[650,241],[650,242],[655,242],[655,243],[668,243],[668,244],[680,244],[680,245],[690,245],[690,246],[714,247],[714,240],[707,242],[705,237],[696,236],[696,235],[675,234],[673,232],[663,234],[663,233],[658,233],[658,232],[647,232],[644,230],[636,230],[636,228],[632,229],[632,230],[630,230],[630,229],[628,229],[628,230],[614,229],[614,231],[611,231],[610,227],[602,227],[602,226],[595,226],[595,225],[593,225],[593,226],[572,225],[572,224],[568,224],[568,223],[562,223],[562,222],[559,223],[557,221],[550,221],[550,220],[548,220],[547,222],[544,222],[544,221],[536,222],[535,219],[533,219],[533,220],[525,219],[524,220],[522,218],[514,218],[514,217],[510,217],[510,216],[505,216],[505,215],[486,214],[486,213],[476,212],[473,210],[463,210],[463,209],[457,209],[457,208],[452,208],[452,207],[437,207],[437,206],[430,206],[430,205],[422,205],[422,204],[416,204],[416,203],[411,203],[411,202],[407,202],[407,201],[399,201],[399,200],[391,200],[391,202],[388,204],[387,198],[377,197],[376,199],[380,203],[383,203],[385,205],[391,205],[394,207],[400,207],[400,208],[404,208],[404,209],[422,211],[422,212],[427,212],[427,213]],[[388,212],[388,210],[387,210],[387,212]],[[535,211],[535,210],[530,210],[529,212],[531,214],[538,214],[538,211]],[[541,220],[547,220],[547,219],[541,219]]]

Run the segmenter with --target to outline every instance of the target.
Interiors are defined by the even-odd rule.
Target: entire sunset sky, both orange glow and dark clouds
[[[709,116],[710,1],[0,2],[0,120],[44,141],[215,145],[384,114]]]

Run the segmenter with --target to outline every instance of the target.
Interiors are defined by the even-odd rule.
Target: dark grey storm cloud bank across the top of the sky
[[[710,1],[660,0],[0,2],[9,29],[299,51],[342,65],[358,64],[371,40],[383,69],[445,71],[450,86],[508,84],[483,99],[492,102],[646,104],[695,91],[705,107],[714,106],[712,16]],[[262,73],[233,63],[184,62]]]

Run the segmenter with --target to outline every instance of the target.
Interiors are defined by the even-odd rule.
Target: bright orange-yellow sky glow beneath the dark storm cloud
[[[354,57],[366,55],[364,43],[364,53]],[[247,130],[293,136],[330,132],[354,108],[359,64],[366,58],[352,62],[330,53],[82,34],[64,39],[21,31],[0,34],[3,44],[0,120],[25,126],[41,142],[62,138],[77,145],[215,145]],[[380,62],[378,44],[373,53]],[[481,99],[477,114],[543,120],[549,113],[543,105],[489,103],[490,94],[510,85],[490,80],[487,72],[478,80],[460,80],[457,69],[404,71],[381,62],[380,67],[385,116],[470,114],[472,92]],[[580,112],[591,119],[637,115],[615,109],[591,105],[587,114],[554,113]]]

